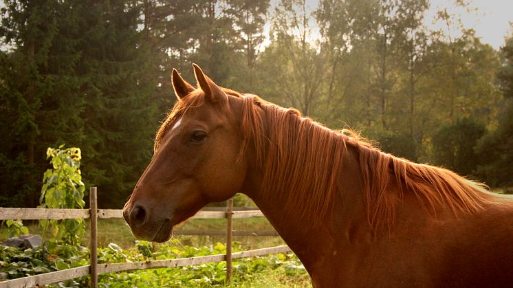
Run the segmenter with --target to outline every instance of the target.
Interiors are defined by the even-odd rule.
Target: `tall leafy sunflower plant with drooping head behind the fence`
[[[52,169],[43,175],[40,208],[84,208],[85,186],[80,175],[80,148],[48,148]],[[52,228],[54,237],[78,245],[85,233],[84,219],[41,220],[43,228]]]

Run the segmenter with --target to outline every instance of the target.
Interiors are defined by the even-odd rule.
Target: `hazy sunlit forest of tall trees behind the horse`
[[[121,208],[191,63],[383,151],[513,186],[513,34],[481,43],[429,0],[5,0],[0,207],[36,207],[48,147],[80,147],[101,208]],[[468,8],[466,1],[454,6]],[[460,36],[454,36],[454,31]]]

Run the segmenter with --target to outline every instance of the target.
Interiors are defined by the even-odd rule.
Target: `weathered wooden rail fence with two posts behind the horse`
[[[232,219],[263,217],[259,210],[233,210],[233,201],[229,199],[225,211],[201,210],[193,219],[219,219],[226,218],[226,232],[224,231],[182,231],[177,234],[189,235],[221,235],[226,234],[226,254],[177,258],[172,260],[159,260],[135,263],[111,263],[98,264],[98,218],[122,218],[122,210],[98,209],[96,201],[96,187],[89,190],[89,209],[39,209],[39,208],[0,208],[0,221],[10,219],[21,220],[41,220],[41,219],[91,219],[91,241],[89,251],[91,252],[91,262],[89,265],[64,269],[56,272],[17,278],[0,282],[0,288],[3,287],[34,287],[36,285],[48,285],[63,280],[69,280],[81,276],[91,275],[91,287],[98,287],[98,274],[130,271],[137,269],[154,269],[162,267],[183,267],[188,265],[199,265],[205,263],[215,263],[226,261],[226,281],[230,282],[232,276],[232,259],[246,258],[252,256],[262,256],[266,254],[290,252],[287,245],[268,247],[257,250],[248,250],[232,253],[232,235],[241,236],[276,236],[275,231],[233,231]]]

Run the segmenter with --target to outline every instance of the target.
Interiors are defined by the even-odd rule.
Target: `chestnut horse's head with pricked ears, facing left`
[[[163,242],[173,226],[207,203],[224,201],[241,189],[246,164],[234,106],[228,96],[194,66],[195,89],[173,69],[175,108],[155,138],[149,166],[123,209],[135,236]],[[237,109],[235,109],[237,110]]]

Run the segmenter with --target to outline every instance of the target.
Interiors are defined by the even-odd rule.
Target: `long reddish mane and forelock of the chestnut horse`
[[[311,118],[302,117],[295,109],[284,109],[258,96],[242,96],[229,89],[223,90],[243,101],[240,155],[250,144],[254,146],[256,159],[264,171],[263,193],[281,197],[286,195],[282,191],[292,191],[294,197],[281,199],[281,203],[285,203],[283,209],[315,215],[305,220],[320,223],[331,210],[333,199],[341,189],[342,159],[348,146],[356,148],[358,153],[364,200],[373,229],[393,221],[394,201],[387,193],[392,181],[397,184],[400,197],[413,193],[422,207],[433,213],[444,205],[455,213],[478,212],[487,201],[488,190],[484,184],[444,168],[416,164],[383,153],[357,133],[348,129],[328,129]],[[169,126],[166,123],[204,102],[201,91],[196,90],[193,94],[175,104],[157,132],[155,149]]]

